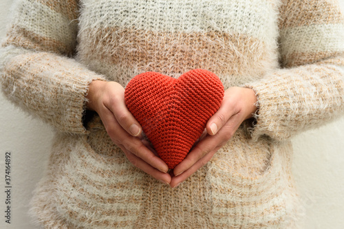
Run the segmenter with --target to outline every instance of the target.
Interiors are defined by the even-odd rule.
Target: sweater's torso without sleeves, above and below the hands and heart
[[[225,89],[278,66],[278,3],[261,0],[83,0],[78,60],[127,85],[142,72],[173,77],[208,69]],[[211,162],[178,188],[135,168],[98,116],[90,134],[54,147],[58,212],[85,228],[288,228],[294,217],[289,142],[240,127]],[[67,145],[67,148],[64,148]],[[54,157],[54,153],[53,156]],[[53,160],[52,160],[53,161]],[[71,224],[71,225],[72,225]]]

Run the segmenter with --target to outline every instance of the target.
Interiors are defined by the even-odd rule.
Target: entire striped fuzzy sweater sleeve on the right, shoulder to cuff
[[[257,95],[253,140],[285,140],[344,113],[344,25],[332,0],[283,0],[279,19],[281,68],[246,87]]]

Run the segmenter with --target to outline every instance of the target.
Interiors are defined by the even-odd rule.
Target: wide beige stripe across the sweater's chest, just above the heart
[[[266,69],[276,67],[272,60],[277,56],[262,41],[243,34],[157,33],[119,28],[83,31],[78,51],[80,60],[97,72],[106,71],[98,66],[103,62],[169,76],[195,68],[217,75],[262,76]]]

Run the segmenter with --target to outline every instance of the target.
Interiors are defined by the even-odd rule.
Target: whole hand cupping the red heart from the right
[[[230,87],[224,92],[219,110],[206,124],[207,134],[200,138],[185,159],[175,166],[171,187],[184,182],[195,171],[204,166],[226,142],[232,138],[241,122],[251,118],[257,107],[255,91],[244,87]]]

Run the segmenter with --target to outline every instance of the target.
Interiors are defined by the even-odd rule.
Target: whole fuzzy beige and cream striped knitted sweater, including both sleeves
[[[332,0],[19,0],[3,93],[56,129],[30,214],[45,228],[297,228],[290,137],[344,112],[344,26]],[[246,120],[178,188],[133,166],[97,114],[92,80],[208,69],[252,88]],[[85,117],[91,117],[85,119]]]

